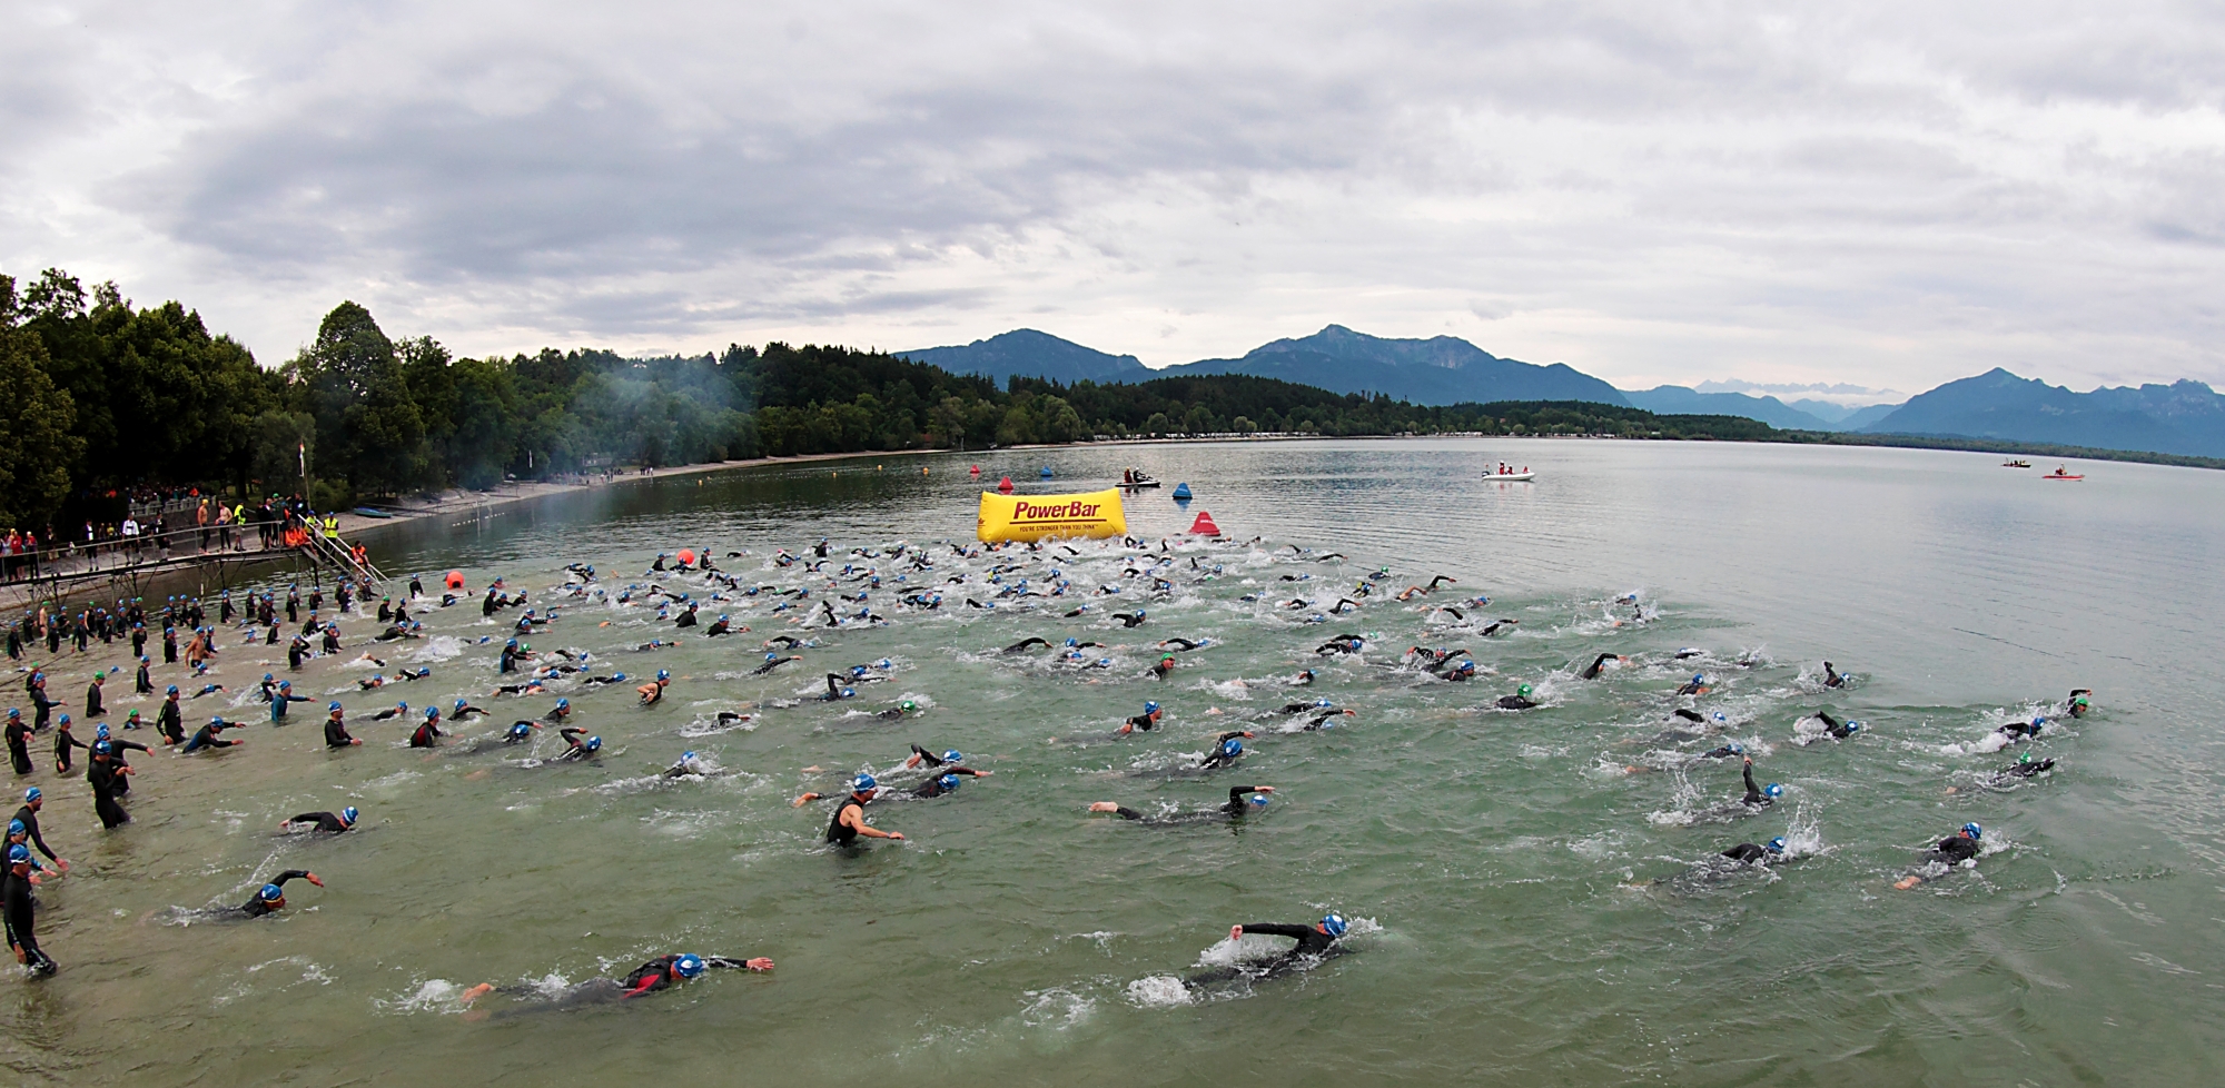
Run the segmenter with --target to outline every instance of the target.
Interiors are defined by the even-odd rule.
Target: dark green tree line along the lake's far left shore
[[[1059,385],[886,352],[730,345],[456,358],[340,303],[283,365],[169,300],[0,276],[0,527],[122,521],[134,496],[303,494],[345,510],[619,465],[1153,434],[1615,434],[1771,441],[1736,416],[1589,403],[1411,405],[1246,374]]]

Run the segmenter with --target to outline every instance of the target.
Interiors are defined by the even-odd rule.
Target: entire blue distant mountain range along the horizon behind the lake
[[[2018,443],[2089,445],[2154,454],[2225,456],[2225,396],[2207,385],[2140,385],[2074,394],[2060,385],[1991,369],[1951,380],[1905,405],[1847,407],[1829,400],[1702,394],[1682,385],[1624,392],[1566,363],[1540,367],[1493,356],[1457,336],[1397,340],[1328,325],[1313,336],[1275,340],[1242,358],[1204,358],[1150,369],[1046,332],[1015,329],[963,347],[897,352],[955,374],[1012,376],[1066,385],[1139,383],[1184,374],[1253,374],[1337,394],[1384,394],[1417,405],[1491,400],[1591,400],[1658,414],[1744,416],[1782,429],[1922,434]]]

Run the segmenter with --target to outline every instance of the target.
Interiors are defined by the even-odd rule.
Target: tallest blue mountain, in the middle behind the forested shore
[[[1566,363],[1540,367],[1497,358],[1457,336],[1393,340],[1331,325],[1313,336],[1275,340],[1244,358],[1204,358],[1159,376],[1253,374],[1339,394],[1373,392],[1417,405],[1462,400],[1593,400],[1629,405],[1622,392]]]

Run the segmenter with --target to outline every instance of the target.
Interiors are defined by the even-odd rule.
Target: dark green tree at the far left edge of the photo
[[[78,409],[47,376],[47,345],[18,325],[16,278],[0,276],[0,525],[33,527],[69,496],[85,438]]]

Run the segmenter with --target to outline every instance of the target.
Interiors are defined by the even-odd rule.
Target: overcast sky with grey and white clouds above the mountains
[[[0,271],[265,363],[356,298],[463,354],[2225,385],[2221,109],[2221,4],[13,0]]]

